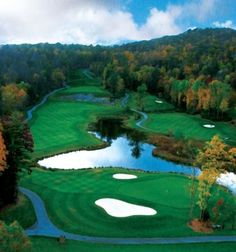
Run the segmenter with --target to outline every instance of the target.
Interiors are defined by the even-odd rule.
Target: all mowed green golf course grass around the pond
[[[95,150],[107,147],[109,141],[96,137],[89,131],[99,118],[118,118],[123,126],[134,132],[167,134],[172,132],[187,139],[210,140],[218,134],[228,144],[235,144],[236,129],[227,122],[212,122],[197,115],[175,112],[166,101],[156,102],[156,97],[147,95],[144,113],[147,119],[142,127],[137,124],[135,93],[111,100],[99,78],[89,71],[77,71],[68,81],[68,86],[49,96],[33,111],[29,120],[34,140],[35,168],[31,174],[23,174],[20,186],[37,194],[43,201],[48,218],[55,227],[64,232],[88,237],[140,238],[140,244],[124,242],[105,244],[66,239],[59,244],[56,238],[31,236],[33,251],[235,251],[236,242],[210,243],[211,236],[231,236],[236,241],[236,231],[227,214],[235,196],[226,188],[215,185],[209,201],[213,209],[219,199],[224,199],[224,229],[211,232],[195,232],[190,221],[190,187],[198,180],[179,173],[123,169],[116,167],[84,167],[91,169],[46,169],[36,165],[38,160],[77,150]],[[79,97],[79,98],[78,98]],[[101,99],[102,98],[102,99]],[[125,104],[123,104],[125,103]],[[127,106],[130,108],[127,109]],[[204,128],[204,124],[215,128]],[[141,148],[142,149],[142,148]],[[114,152],[112,158],[119,155]],[[130,153],[127,153],[130,155]],[[191,168],[189,168],[191,169]],[[135,175],[133,179],[115,179],[115,174]],[[198,195],[195,196],[195,202]],[[155,210],[154,214],[114,217],[103,207],[95,204],[101,199],[117,199]],[[24,215],[27,209],[27,217]],[[192,215],[199,216],[197,204]],[[211,212],[210,214],[213,215]],[[34,228],[36,215],[30,200],[20,194],[19,204],[6,209],[0,215],[6,222],[18,220],[24,229]],[[223,218],[223,217],[222,217]],[[30,229],[29,229],[30,230]],[[185,244],[184,237],[209,237],[208,241]],[[183,238],[178,244],[146,244],[143,238]],[[233,239],[233,238],[232,238]],[[111,242],[112,243],[112,242]],[[127,244],[126,244],[127,243]],[[168,242],[167,242],[168,243]]]

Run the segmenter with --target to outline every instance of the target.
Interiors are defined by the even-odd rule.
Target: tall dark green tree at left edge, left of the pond
[[[7,169],[0,176],[0,208],[15,203],[18,196],[19,172],[30,171],[33,140],[20,113],[2,118],[3,137],[8,151]]]

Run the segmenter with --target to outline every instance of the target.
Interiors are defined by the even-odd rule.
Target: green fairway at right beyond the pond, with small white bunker
[[[134,121],[130,123],[135,125]],[[204,128],[204,124],[214,124],[213,129]],[[226,122],[212,122],[200,116],[185,113],[150,113],[143,126],[153,133],[181,135],[186,138],[210,140],[219,135],[226,143],[236,144],[236,128]]]

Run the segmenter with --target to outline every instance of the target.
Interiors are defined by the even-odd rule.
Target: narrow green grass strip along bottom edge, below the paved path
[[[56,239],[35,237],[31,238],[33,252],[234,252],[236,243],[201,243],[201,244],[173,244],[173,245],[112,245],[94,244],[66,240],[65,244],[59,244]]]

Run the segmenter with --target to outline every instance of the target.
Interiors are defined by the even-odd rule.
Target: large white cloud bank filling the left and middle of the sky
[[[152,8],[138,26],[120,0],[0,0],[0,43],[114,44],[173,35],[184,30],[179,20],[203,19],[215,1]]]

